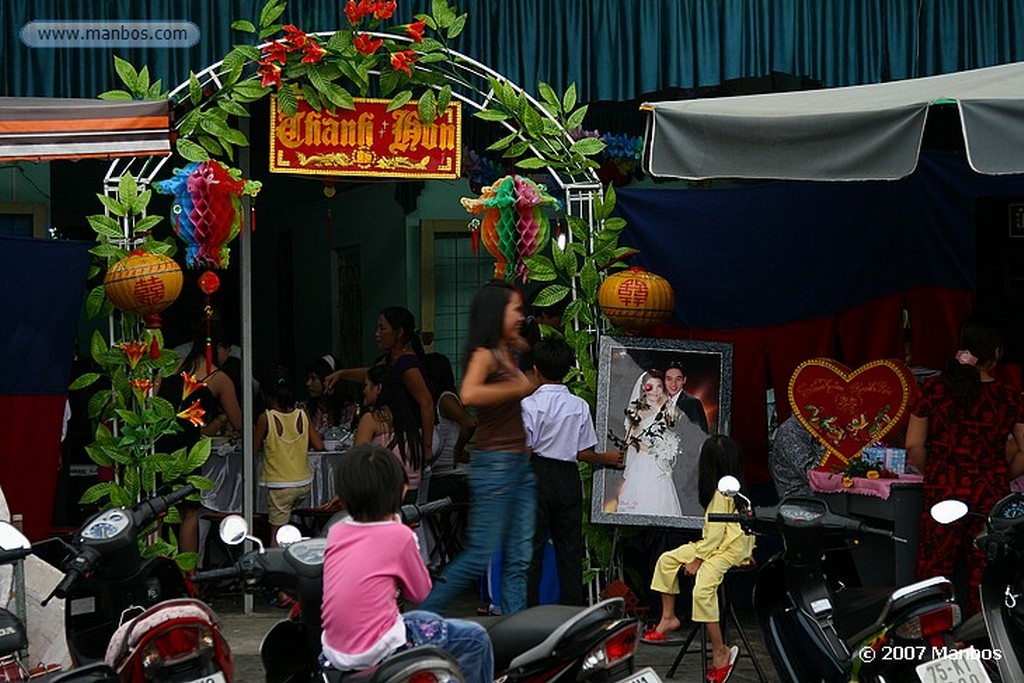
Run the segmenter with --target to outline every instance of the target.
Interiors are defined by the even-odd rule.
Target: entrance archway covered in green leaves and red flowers
[[[542,83],[538,88],[539,100],[500,74],[452,49],[449,41],[458,36],[465,15],[458,15],[444,2],[434,3],[432,15],[382,31],[394,11],[394,4],[373,0],[356,4],[349,0],[345,10],[348,28],[306,34],[295,27],[275,24],[285,11],[285,3],[270,0],[260,13],[258,27],[241,20],[232,24],[232,29],[257,35],[261,40],[271,35],[282,37],[256,45],[236,46],[224,59],[193,75],[169,93],[160,92],[159,82],[151,83],[145,68],[136,70],[116,59],[126,89],[104,96],[169,98],[175,106],[173,129],[177,133],[178,154],[202,170],[211,186],[230,188],[230,196],[218,200],[218,206],[236,213],[226,220],[211,217],[211,225],[217,222],[217,227],[204,224],[202,228],[205,233],[216,232],[220,242],[212,246],[190,245],[186,260],[189,264],[220,266],[226,261],[226,244],[236,234],[240,236],[243,376],[246,377],[252,375],[248,228],[252,220],[251,198],[258,186],[244,180],[242,171],[217,159],[233,160],[238,154],[243,169],[249,165],[245,153],[246,125],[233,128],[230,123],[233,117],[245,122],[246,105],[269,94],[276,96],[276,106],[285,114],[295,114],[299,97],[317,110],[347,109],[351,106],[352,95],[346,87],[351,87],[364,96],[377,88],[375,92],[390,97],[389,111],[413,101],[415,93],[417,113],[424,123],[432,122],[450,101],[458,100],[477,118],[504,127],[507,134],[490,148],[515,160],[515,166],[524,172],[543,170],[553,178],[563,193],[569,227],[565,244],[551,241],[544,253],[524,255],[523,267],[510,268],[508,276],[544,283],[539,305],[569,300],[564,315],[565,337],[580,358],[580,369],[570,386],[593,400],[596,371],[592,349],[600,324],[597,291],[601,274],[620,266],[632,250],[617,246],[625,222],[610,217],[614,193],[610,187],[602,191],[595,173],[597,164],[590,159],[604,143],[587,137],[573,139],[570,134],[582,124],[586,105],[577,105],[572,86],[557,95]],[[437,32],[437,39],[424,38],[428,28]],[[161,217],[147,213],[152,191],[167,161],[166,157],[132,158],[115,161],[109,168],[100,196],[104,213],[89,217],[100,243],[93,253],[109,267],[127,258],[138,258],[134,252],[157,258],[175,251],[172,239],[154,237],[153,228]],[[198,172],[197,169],[188,172],[194,171]],[[175,177],[183,174],[176,171]],[[166,189],[168,181],[159,182]],[[205,196],[203,202],[204,207],[216,204]],[[172,220],[180,233],[183,230],[177,224],[180,217],[175,215]],[[200,228],[196,230],[199,232]],[[97,271],[100,269],[97,267]],[[152,294],[152,290],[147,292]],[[161,305],[169,303],[170,300],[161,301]],[[110,288],[104,290],[102,286],[90,292],[87,308],[92,314],[111,314],[108,338],[96,335],[91,348],[102,372],[79,378],[73,388],[87,386],[103,375],[111,379],[111,388],[97,391],[90,405],[91,417],[98,419],[100,427],[89,452],[98,464],[113,467],[116,477],[90,488],[83,502],[130,504],[152,495],[162,479],[182,475],[197,485],[210,485],[202,477],[189,474],[209,456],[206,440],[189,452],[156,453],[156,440],[174,429],[176,417],[202,421],[202,415],[191,409],[175,415],[167,401],[152,395],[154,380],[172,373],[175,364],[173,354],[163,348],[159,328],[152,327],[152,319],[147,323],[142,317],[143,312],[155,311],[119,304],[116,312]],[[244,383],[244,394],[250,392],[251,385]],[[243,401],[251,405],[252,396],[244,395]],[[252,481],[251,429],[243,430],[243,439],[244,477],[245,481]],[[245,512],[251,518],[254,506],[248,485],[245,497]],[[173,551],[173,543],[162,544],[160,549]],[[195,563],[195,558],[179,555],[179,562],[187,566]]]

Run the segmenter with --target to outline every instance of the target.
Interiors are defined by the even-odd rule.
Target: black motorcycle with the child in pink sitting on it
[[[450,501],[406,505],[401,518],[414,524]],[[335,520],[332,520],[335,521]],[[328,526],[330,526],[329,522]],[[325,531],[326,533],[326,531]],[[226,545],[246,540],[255,549],[230,567],[202,571],[196,581],[242,580],[247,590],[286,588],[298,595],[289,618],[276,624],[260,645],[268,683],[284,681],[345,681],[402,683],[463,681],[453,658],[436,647],[415,647],[358,672],[325,671],[319,666],[323,568],[327,539],[300,539],[298,529],[282,527],[279,548],[263,548],[249,536],[241,517],[225,518],[220,538]],[[621,598],[591,607],[542,605],[509,616],[479,617],[487,629],[495,654],[495,679],[503,683],[555,679],[603,683],[633,673],[638,644],[636,620],[624,616]],[[649,672],[648,681],[656,681]]]

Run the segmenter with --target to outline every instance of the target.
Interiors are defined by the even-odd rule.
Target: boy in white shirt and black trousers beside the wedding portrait
[[[542,339],[527,356],[536,391],[522,399],[526,446],[537,474],[537,527],[526,602],[539,603],[541,562],[551,535],[560,586],[559,602],[584,604],[583,484],[579,462],[623,466],[621,451],[595,453],[597,433],[587,401],[569,392],[562,380],[575,356],[561,339]]]

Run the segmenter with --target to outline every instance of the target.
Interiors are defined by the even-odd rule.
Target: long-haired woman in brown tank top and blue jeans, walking
[[[483,574],[502,550],[501,607],[512,614],[526,607],[526,573],[532,554],[537,480],[526,454],[519,400],[534,384],[516,366],[525,348],[522,295],[492,281],[477,290],[469,309],[462,380],[463,403],[476,409],[476,449],[469,463],[471,508],[466,549],[444,570],[422,609],[441,611]]]

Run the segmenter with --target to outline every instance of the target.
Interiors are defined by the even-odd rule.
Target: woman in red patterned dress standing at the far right
[[[1002,343],[996,327],[967,321],[961,329],[961,350],[940,376],[922,386],[906,432],[907,460],[925,475],[918,578],[952,578],[953,567],[966,564],[969,590],[961,601],[970,613],[979,609],[985,556],[974,548],[974,538],[984,521],[971,515],[942,525],[929,510],[938,501],[954,498],[987,514],[1010,493],[1010,479],[1024,472],[1024,457],[1008,462],[1006,455],[1009,434],[1018,453],[1024,446],[1024,399],[1020,391],[992,377]]]

